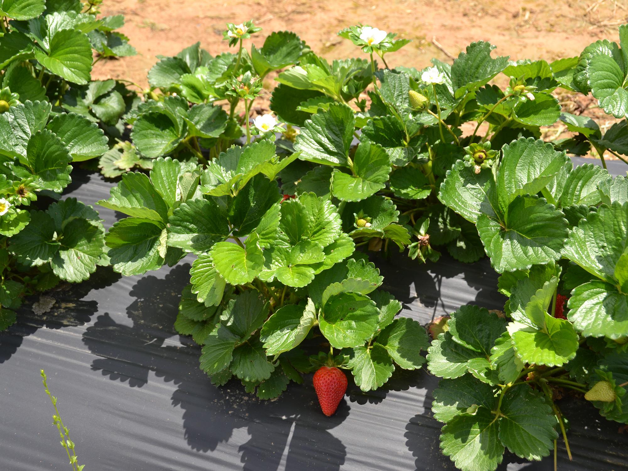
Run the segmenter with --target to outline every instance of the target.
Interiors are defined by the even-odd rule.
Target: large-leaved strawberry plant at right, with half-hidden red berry
[[[494,470],[506,448],[540,460],[556,453],[559,433],[571,458],[555,404],[563,394],[586,393],[602,416],[628,422],[625,178],[573,168],[534,138],[491,160],[458,161],[439,193],[475,224],[509,297],[505,317],[462,306],[428,350],[443,378],[432,404],[441,449],[469,471]]]

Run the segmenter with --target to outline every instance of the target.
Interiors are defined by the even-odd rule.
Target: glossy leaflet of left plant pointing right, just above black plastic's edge
[[[58,114],[46,127],[61,139],[73,162],[99,157],[109,150],[104,132],[78,114]]]

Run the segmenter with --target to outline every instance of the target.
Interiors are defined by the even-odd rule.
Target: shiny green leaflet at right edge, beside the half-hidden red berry
[[[581,284],[571,291],[567,305],[567,318],[584,337],[628,336],[628,296],[614,284],[602,280]]]

